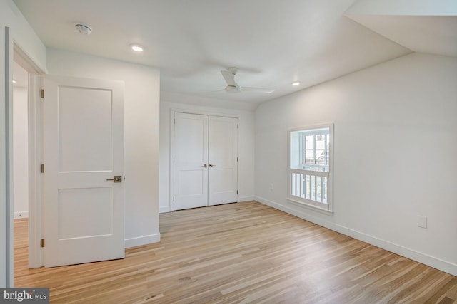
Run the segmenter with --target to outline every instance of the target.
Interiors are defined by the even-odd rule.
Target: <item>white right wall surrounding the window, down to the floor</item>
[[[457,58],[413,53],[263,103],[256,199],[457,275],[456,84]],[[287,130],[324,122],[335,124],[334,216],[286,201]]]

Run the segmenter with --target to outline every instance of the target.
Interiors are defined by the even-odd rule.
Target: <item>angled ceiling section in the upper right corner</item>
[[[345,15],[411,51],[457,57],[455,0],[361,0]]]

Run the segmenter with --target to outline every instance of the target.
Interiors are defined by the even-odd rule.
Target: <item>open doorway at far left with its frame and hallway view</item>
[[[13,43],[13,95],[11,98],[10,119],[12,130],[13,159],[13,208],[14,219],[24,221],[21,231],[24,243],[21,243],[21,261],[29,268],[41,267],[41,105],[39,103],[39,75],[44,70],[39,68],[22,49]],[[16,223],[15,223],[16,224]],[[27,227],[24,227],[24,225]],[[15,231],[16,232],[16,231]],[[24,236],[26,234],[26,236]],[[15,236],[12,236],[13,238]],[[16,256],[16,248],[14,248]]]

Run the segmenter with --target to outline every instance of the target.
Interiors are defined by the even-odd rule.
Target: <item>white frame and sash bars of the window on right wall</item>
[[[292,168],[291,165],[291,150],[293,147],[293,143],[291,142],[291,134],[293,132],[297,131],[303,131],[303,132],[313,132],[318,129],[325,129],[328,128],[328,134],[330,135],[330,139],[328,140],[328,157],[329,157],[329,162],[328,162],[328,172],[319,172],[319,171],[312,171],[312,170],[306,170],[306,169],[296,169]],[[333,216],[333,123],[326,123],[322,125],[311,125],[311,126],[306,126],[306,127],[295,127],[292,129],[289,129],[287,132],[287,143],[288,143],[288,149],[287,149],[287,180],[288,180],[288,190],[287,190],[287,200],[292,203],[296,204],[299,206],[304,206],[308,209],[312,209],[315,211],[319,211],[323,214],[327,215],[332,215]],[[303,149],[301,147],[301,149]],[[314,148],[316,149],[316,148]],[[321,184],[323,184],[323,179],[326,178],[327,183],[326,183],[326,194],[327,194],[327,199],[326,202],[323,202],[323,188],[321,188],[321,201],[317,201],[312,199],[308,199],[304,197],[303,195],[297,196],[294,195],[297,193],[297,188],[299,187],[305,187],[303,186],[303,179],[305,177],[309,177],[310,179],[314,178],[314,181],[316,182],[317,179],[320,179]],[[294,179],[294,180],[293,180]],[[316,182],[317,184],[317,182]],[[323,186],[322,186],[323,187]],[[299,191],[301,193],[301,189]],[[315,196],[317,199],[317,197]]]

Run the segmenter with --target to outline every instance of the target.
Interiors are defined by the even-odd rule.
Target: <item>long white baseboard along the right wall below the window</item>
[[[306,212],[303,212],[303,211],[300,211],[297,209],[293,209],[293,208],[283,205],[283,204],[278,204],[274,201],[269,201],[268,199],[264,199],[259,196],[256,196],[255,200],[262,204],[266,204],[267,206],[271,206],[275,209],[284,211],[288,214],[292,214],[293,216],[297,216],[301,219],[305,219],[306,221],[311,221],[312,223],[318,224],[319,226],[323,226],[323,227],[326,227],[333,231],[339,232],[340,234],[345,234],[346,236],[351,236],[354,239],[364,241],[373,246],[383,248],[387,251],[391,251],[400,256],[404,256],[406,258],[411,258],[411,260],[413,260],[413,261],[423,263],[427,266],[436,268],[440,271],[450,273],[453,276],[457,276],[457,264],[454,264],[454,263],[451,263],[448,261],[443,261],[440,258],[436,258],[433,256],[428,256],[425,253],[415,251],[411,248],[406,248],[406,247],[398,245],[396,243],[391,243],[391,242],[385,241],[383,239],[378,239],[375,236],[371,236],[369,234],[364,234],[361,231],[356,231],[356,230],[353,230],[346,226],[341,226],[338,224],[331,223],[329,221],[326,221],[325,219],[321,219],[316,216],[312,216]]]

